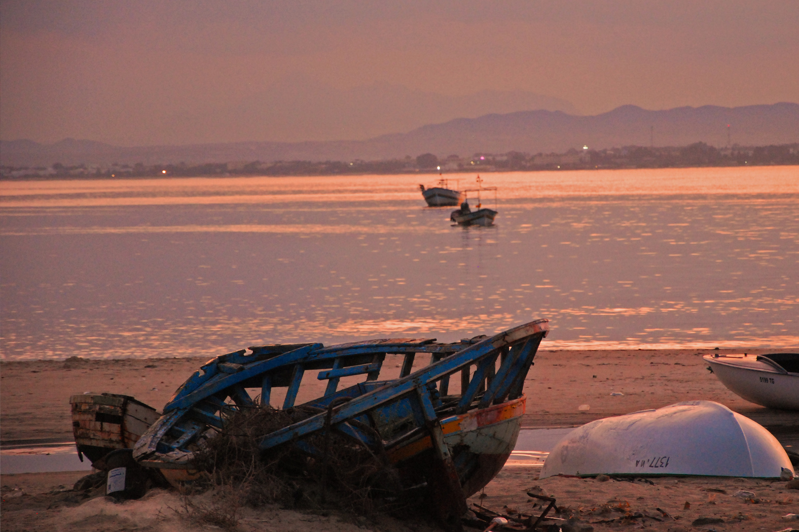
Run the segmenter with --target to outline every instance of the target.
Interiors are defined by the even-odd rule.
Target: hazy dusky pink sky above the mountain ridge
[[[799,2],[0,3],[0,139],[356,140],[799,101]]]

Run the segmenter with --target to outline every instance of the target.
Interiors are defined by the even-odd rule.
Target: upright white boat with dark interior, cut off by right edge
[[[730,392],[768,408],[799,410],[799,353],[703,358]]]

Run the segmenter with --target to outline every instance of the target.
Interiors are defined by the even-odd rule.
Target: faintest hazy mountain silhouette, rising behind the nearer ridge
[[[524,91],[450,97],[388,83],[340,90],[296,76],[234,105],[167,117],[163,127],[173,138],[185,139],[368,140],[424,124],[521,109],[577,114],[566,100]]]

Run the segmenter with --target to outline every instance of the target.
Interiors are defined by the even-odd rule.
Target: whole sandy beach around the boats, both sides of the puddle
[[[714,400],[768,427],[784,444],[796,442],[799,413],[771,411],[729,392],[706,370],[696,349],[646,351],[547,351],[535,359],[525,393],[524,427],[568,427],[601,417],[659,408],[681,400]],[[715,353],[733,353],[729,350]],[[750,351],[749,353],[758,353]],[[2,362],[2,444],[71,441],[69,396],[116,392],[161,408],[203,360],[124,359]],[[394,362],[387,358],[386,367]],[[399,371],[399,370],[396,370]],[[304,391],[310,396],[320,392]],[[622,396],[611,396],[621,392]],[[303,397],[300,397],[302,400]],[[276,400],[280,400],[276,397]],[[273,400],[274,402],[274,400]],[[589,405],[580,411],[580,405]],[[787,443],[786,443],[787,442]],[[595,479],[538,479],[534,467],[506,467],[479,503],[500,513],[535,513],[526,492],[554,496],[585,526],[614,530],[785,530],[781,516],[799,512],[799,491],[784,481],[735,478],[654,478],[651,483]],[[174,493],[152,491],[117,504],[68,490],[81,472],[2,475],[4,530],[197,530],[179,515]],[[751,491],[753,498],[736,497]],[[208,495],[206,495],[208,496]],[[660,510],[658,510],[658,508]],[[634,517],[638,516],[638,517]],[[697,521],[704,518],[705,521]],[[717,521],[714,521],[716,519]],[[721,522],[718,521],[721,519]],[[705,522],[693,526],[694,522]],[[433,530],[424,522],[296,511],[270,506],[240,512],[239,530]]]

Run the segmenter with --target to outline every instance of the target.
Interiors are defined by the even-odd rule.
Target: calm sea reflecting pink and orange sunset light
[[[799,167],[491,173],[495,227],[425,207],[437,178],[0,183],[2,358],[456,341],[539,317],[543,349],[799,345]]]

